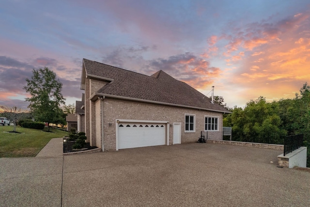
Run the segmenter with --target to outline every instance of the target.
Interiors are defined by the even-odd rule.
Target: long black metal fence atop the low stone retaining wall
[[[283,144],[285,136],[277,133],[256,132],[225,132],[225,131],[202,131],[201,135],[208,140],[224,140],[247,143]]]

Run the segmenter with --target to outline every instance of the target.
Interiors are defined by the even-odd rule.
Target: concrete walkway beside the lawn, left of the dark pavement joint
[[[0,158],[0,207],[61,207],[62,164],[62,138],[35,158]]]

